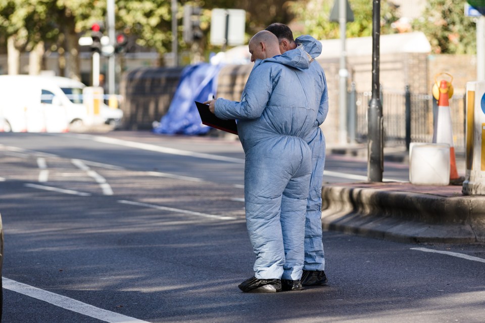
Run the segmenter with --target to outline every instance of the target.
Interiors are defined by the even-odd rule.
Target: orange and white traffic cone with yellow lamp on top
[[[438,100],[437,122],[434,126],[433,143],[450,145],[450,182],[460,178],[456,169],[455,145],[453,143],[453,126],[451,123],[450,103],[448,93],[450,83],[446,80],[440,82],[440,97]]]

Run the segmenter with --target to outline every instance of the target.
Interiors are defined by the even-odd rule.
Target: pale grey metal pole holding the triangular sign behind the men
[[[346,0],[338,0],[338,23],[340,24],[340,40],[342,47],[342,53],[340,55],[340,70],[338,71],[338,75],[340,76],[338,100],[338,142],[340,144],[347,144],[347,77],[349,76],[349,72],[347,71],[346,67],[347,52],[345,48],[345,33],[347,27]]]

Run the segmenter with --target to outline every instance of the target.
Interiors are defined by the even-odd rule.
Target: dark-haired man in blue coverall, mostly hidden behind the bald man
[[[303,45],[303,50],[316,58],[321,52],[312,52],[312,47],[316,41],[310,36],[301,36],[293,39],[292,30],[281,23],[269,25],[266,30],[271,31],[278,37],[279,49],[281,53],[294,50],[298,45]],[[312,151],[312,176],[310,180],[310,193],[307,201],[307,212],[305,220],[305,264],[301,283],[303,286],[324,285],[327,283],[325,275],[325,257],[322,242],[322,181],[323,168],[325,165],[325,137],[319,127],[328,113],[328,91],[325,73],[320,64],[313,62],[309,69],[305,71],[315,79],[315,86],[318,87],[320,95],[317,96],[318,105],[317,123],[311,136],[307,139],[307,144]]]

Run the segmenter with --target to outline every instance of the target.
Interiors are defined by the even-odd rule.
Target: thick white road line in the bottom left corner
[[[23,295],[27,295],[38,300],[56,305],[58,307],[80,313],[86,316],[94,317],[99,320],[110,322],[110,323],[149,323],[148,321],[143,321],[134,317],[129,317],[123,314],[115,313],[95,307],[75,299],[55,294],[36,288],[30,285],[22,284],[8,278],[2,277],[2,284],[5,289],[14,291]]]

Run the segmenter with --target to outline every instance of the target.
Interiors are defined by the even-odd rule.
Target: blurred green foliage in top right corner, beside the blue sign
[[[476,27],[473,18],[464,15],[465,2],[465,0],[428,0],[421,18],[413,22],[414,30],[426,34],[434,53],[476,53]]]

